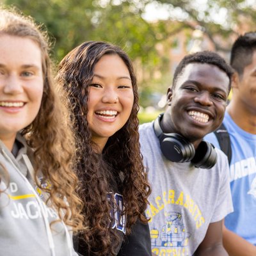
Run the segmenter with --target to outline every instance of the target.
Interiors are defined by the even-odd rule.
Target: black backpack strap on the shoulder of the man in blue
[[[216,131],[214,131],[214,134],[219,141],[221,150],[227,155],[228,163],[230,164],[232,157],[231,142],[227,129],[223,123]]]

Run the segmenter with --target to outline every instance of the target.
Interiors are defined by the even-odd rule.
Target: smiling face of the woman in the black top
[[[101,150],[108,138],[125,125],[133,102],[132,81],[122,58],[116,54],[102,56],[93,71],[87,115],[92,140]]]

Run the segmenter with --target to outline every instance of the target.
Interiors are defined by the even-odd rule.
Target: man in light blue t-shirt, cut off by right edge
[[[256,255],[256,32],[241,35],[231,50],[232,99],[223,124],[230,136],[230,188],[234,212],[225,218],[229,255]],[[220,148],[214,133],[205,140]]]

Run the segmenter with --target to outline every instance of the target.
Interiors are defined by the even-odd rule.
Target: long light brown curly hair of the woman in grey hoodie
[[[74,230],[83,228],[83,203],[76,193],[77,176],[74,172],[74,134],[68,112],[67,99],[61,99],[61,88],[52,79],[52,63],[49,56],[49,37],[42,26],[31,17],[25,17],[14,9],[0,8],[0,36],[11,35],[30,38],[40,47],[44,92],[40,110],[35,120],[22,130],[29,147],[33,149],[35,175],[40,171],[49,180],[51,188],[40,189],[49,193],[48,200],[61,220]],[[59,90],[59,92],[57,92]],[[58,95],[58,93],[60,95]],[[71,216],[71,218],[70,218]]]

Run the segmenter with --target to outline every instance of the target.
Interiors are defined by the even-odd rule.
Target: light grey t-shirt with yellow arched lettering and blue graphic
[[[146,211],[152,252],[191,256],[210,223],[232,211],[227,157],[217,149],[218,161],[211,169],[173,163],[161,152],[153,122],[140,126],[140,144],[152,188]]]

